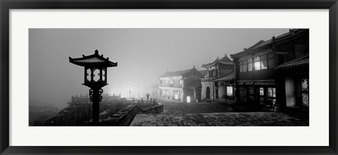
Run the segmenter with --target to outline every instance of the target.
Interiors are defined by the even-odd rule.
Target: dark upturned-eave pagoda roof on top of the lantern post
[[[116,67],[118,62],[111,62],[104,55],[99,55],[99,51],[95,50],[93,55],[82,55],[82,58],[69,58],[69,62],[83,67]]]

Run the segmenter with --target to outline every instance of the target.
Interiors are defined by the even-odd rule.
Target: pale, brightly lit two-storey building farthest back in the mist
[[[201,100],[201,78],[195,67],[166,72],[158,77],[158,95],[170,100],[197,102]]]

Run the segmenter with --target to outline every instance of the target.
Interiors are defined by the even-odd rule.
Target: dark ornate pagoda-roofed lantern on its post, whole
[[[104,58],[104,55],[99,55],[99,51],[95,50],[93,55],[84,56],[82,58],[69,58],[69,62],[75,65],[84,67],[84,86],[90,88],[89,95],[90,101],[93,102],[92,116],[93,123],[99,123],[99,103],[102,100],[101,94],[104,90],[101,88],[108,85],[107,83],[107,67],[117,67],[118,62],[111,62],[109,58]],[[90,72],[90,79],[87,78]],[[97,76],[99,79],[94,79],[95,71],[99,71]]]

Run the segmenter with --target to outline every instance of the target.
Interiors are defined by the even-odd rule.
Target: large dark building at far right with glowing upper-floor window
[[[290,29],[231,55],[238,104],[308,107],[308,29]]]

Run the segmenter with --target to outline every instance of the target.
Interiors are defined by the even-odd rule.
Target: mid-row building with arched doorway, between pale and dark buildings
[[[216,58],[211,63],[202,67],[208,70],[208,75],[201,79],[201,97],[206,100],[234,103],[234,65],[232,60],[225,55]]]

